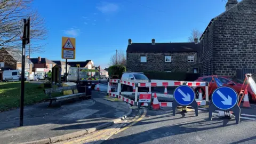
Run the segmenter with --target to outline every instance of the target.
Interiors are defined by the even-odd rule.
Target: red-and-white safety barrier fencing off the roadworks
[[[113,84],[115,84],[117,87],[113,91]],[[121,92],[121,84],[128,85],[135,87],[135,91],[133,92]],[[202,99],[195,99],[198,106],[204,106],[209,102],[209,92],[208,92],[208,83],[206,82],[186,82],[186,81],[165,81],[165,80],[129,80],[129,81],[123,81],[121,79],[109,79],[108,81],[108,95],[110,97],[121,99],[125,102],[130,103],[131,105],[138,106],[138,97],[141,93],[145,92],[138,92],[139,87],[149,87],[149,92],[151,92],[151,87],[166,87],[166,86],[181,86],[181,85],[187,85],[189,87],[205,87],[205,100]],[[126,96],[125,96],[126,95]],[[128,97],[127,97],[128,95]],[[134,95],[134,96],[133,96]],[[134,100],[132,98],[129,98],[133,96]],[[153,93],[152,95],[153,96]],[[173,94],[160,94],[157,93],[157,97],[163,97],[163,98],[172,98]],[[172,107],[172,102],[159,102],[161,107]],[[147,103],[143,104],[142,106],[147,106]]]

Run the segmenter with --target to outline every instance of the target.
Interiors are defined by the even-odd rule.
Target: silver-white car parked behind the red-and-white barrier
[[[121,80],[125,81],[147,81],[148,82],[148,77],[145,76],[143,73],[135,73],[135,72],[128,72],[128,73],[123,73]],[[153,87],[151,87],[152,90]],[[132,92],[133,87],[129,85],[121,85],[121,90],[122,91],[128,91]],[[149,87],[139,87],[138,91],[149,91]]]

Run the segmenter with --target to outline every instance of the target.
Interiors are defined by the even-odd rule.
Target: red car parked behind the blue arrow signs
[[[229,76],[218,76],[218,79],[222,82],[223,86],[228,86],[233,88],[238,94],[241,91],[241,87],[243,86],[243,83],[237,83],[234,82],[233,79]],[[196,82],[209,82],[209,99],[215,89],[217,89],[217,85],[212,81],[212,76],[204,76],[204,77],[199,77],[196,79]],[[242,91],[245,89],[246,84],[244,84]],[[196,92],[196,98],[198,98],[199,95],[199,90],[202,90],[203,95],[205,94],[205,87],[200,86],[200,87],[195,87],[195,92]],[[247,87],[248,91],[248,97],[250,102],[256,102],[256,95],[253,93],[250,85]],[[239,95],[239,98],[241,98],[242,94]]]

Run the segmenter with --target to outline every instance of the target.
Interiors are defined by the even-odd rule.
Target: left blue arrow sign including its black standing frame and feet
[[[174,101],[172,102],[172,113],[175,116],[175,111],[178,106],[191,106],[195,109],[195,114],[198,116],[198,105],[195,100],[195,91],[187,86],[178,86],[173,93]]]

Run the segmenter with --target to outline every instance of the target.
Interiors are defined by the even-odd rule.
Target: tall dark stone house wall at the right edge
[[[226,11],[210,21],[200,38],[203,76],[256,69],[255,15],[255,0],[227,1]]]

